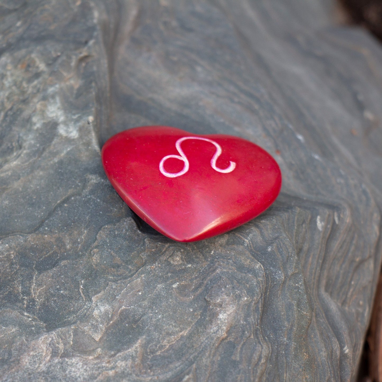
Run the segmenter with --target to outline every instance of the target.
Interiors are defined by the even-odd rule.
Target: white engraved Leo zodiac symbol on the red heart
[[[199,141],[206,141],[206,142],[210,142],[212,143],[215,147],[216,147],[216,151],[215,151],[215,154],[214,156],[212,157],[211,159],[211,167],[217,171],[217,172],[222,172],[224,174],[228,173],[228,172],[231,172],[233,170],[235,170],[235,167],[236,167],[236,163],[235,162],[232,162],[230,160],[230,165],[227,167],[227,168],[219,168],[219,167],[216,167],[216,161],[217,159],[219,158],[220,154],[222,154],[222,148],[220,147],[220,145],[218,143],[216,143],[215,141],[212,141],[211,139],[208,139],[208,138],[200,138],[200,137],[183,137],[183,138],[179,138],[176,142],[175,142],[175,147],[176,147],[176,150],[178,150],[178,153],[180,155],[166,155],[165,157],[162,158],[162,160],[160,161],[159,163],[159,170],[160,172],[164,175],[164,176],[167,176],[167,178],[176,178],[177,176],[181,176],[183,174],[185,174],[190,165],[189,165],[189,162],[188,162],[188,159],[185,155],[185,153],[183,152],[183,150],[181,149],[180,147],[180,144],[185,141],[186,139],[199,139]],[[163,165],[165,163],[165,161],[169,158],[175,158],[175,159],[179,159],[179,160],[182,160],[185,164],[183,166],[183,170],[181,170],[180,172],[175,172],[175,173],[172,173],[172,172],[167,172]]]

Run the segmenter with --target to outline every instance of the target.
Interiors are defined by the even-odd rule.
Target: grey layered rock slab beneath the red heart
[[[0,380],[354,380],[381,260],[382,49],[319,0],[0,0]],[[253,221],[137,225],[100,147],[264,147]]]

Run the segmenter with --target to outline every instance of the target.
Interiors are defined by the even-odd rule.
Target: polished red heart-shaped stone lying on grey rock
[[[281,188],[280,168],[256,144],[168,126],[116,134],[102,147],[102,163],[128,206],[177,241],[206,239],[248,222]]]

